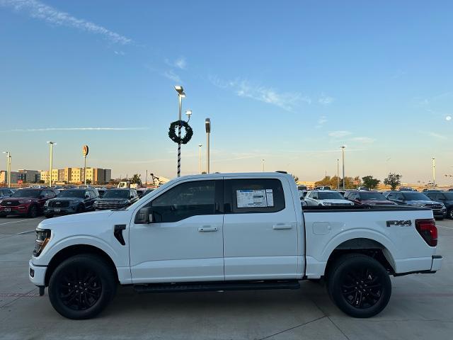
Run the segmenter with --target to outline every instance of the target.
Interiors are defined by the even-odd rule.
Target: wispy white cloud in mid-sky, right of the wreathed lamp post
[[[245,79],[222,81],[217,77],[210,77],[210,81],[214,86],[221,89],[231,89],[236,96],[275,105],[286,111],[293,111],[294,107],[301,102],[311,104],[309,96],[303,96],[298,92],[278,92],[270,87],[252,84]]]

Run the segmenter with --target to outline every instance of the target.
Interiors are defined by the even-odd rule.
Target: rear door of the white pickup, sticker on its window
[[[297,278],[302,260],[287,179],[225,178],[224,202],[225,280]]]

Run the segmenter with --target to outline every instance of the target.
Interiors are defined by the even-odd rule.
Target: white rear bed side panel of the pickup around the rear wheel
[[[350,239],[372,239],[396,273],[429,270],[435,247],[415,229],[416,219],[432,218],[431,210],[306,211],[306,277],[323,276],[332,251]],[[387,227],[389,220],[411,220],[411,226]]]

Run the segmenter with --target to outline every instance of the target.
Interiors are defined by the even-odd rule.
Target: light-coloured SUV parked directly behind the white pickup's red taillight
[[[433,202],[424,193],[415,193],[412,191],[390,191],[384,193],[384,196],[399,205],[413,205],[415,207],[424,207],[432,209],[434,217],[442,219],[447,215],[447,209],[441,202]]]

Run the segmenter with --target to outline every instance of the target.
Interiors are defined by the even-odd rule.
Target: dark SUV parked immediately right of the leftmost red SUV
[[[44,204],[44,215],[54,217],[94,210],[93,203],[97,198],[98,193],[90,188],[67,189],[56,198],[47,200]]]

